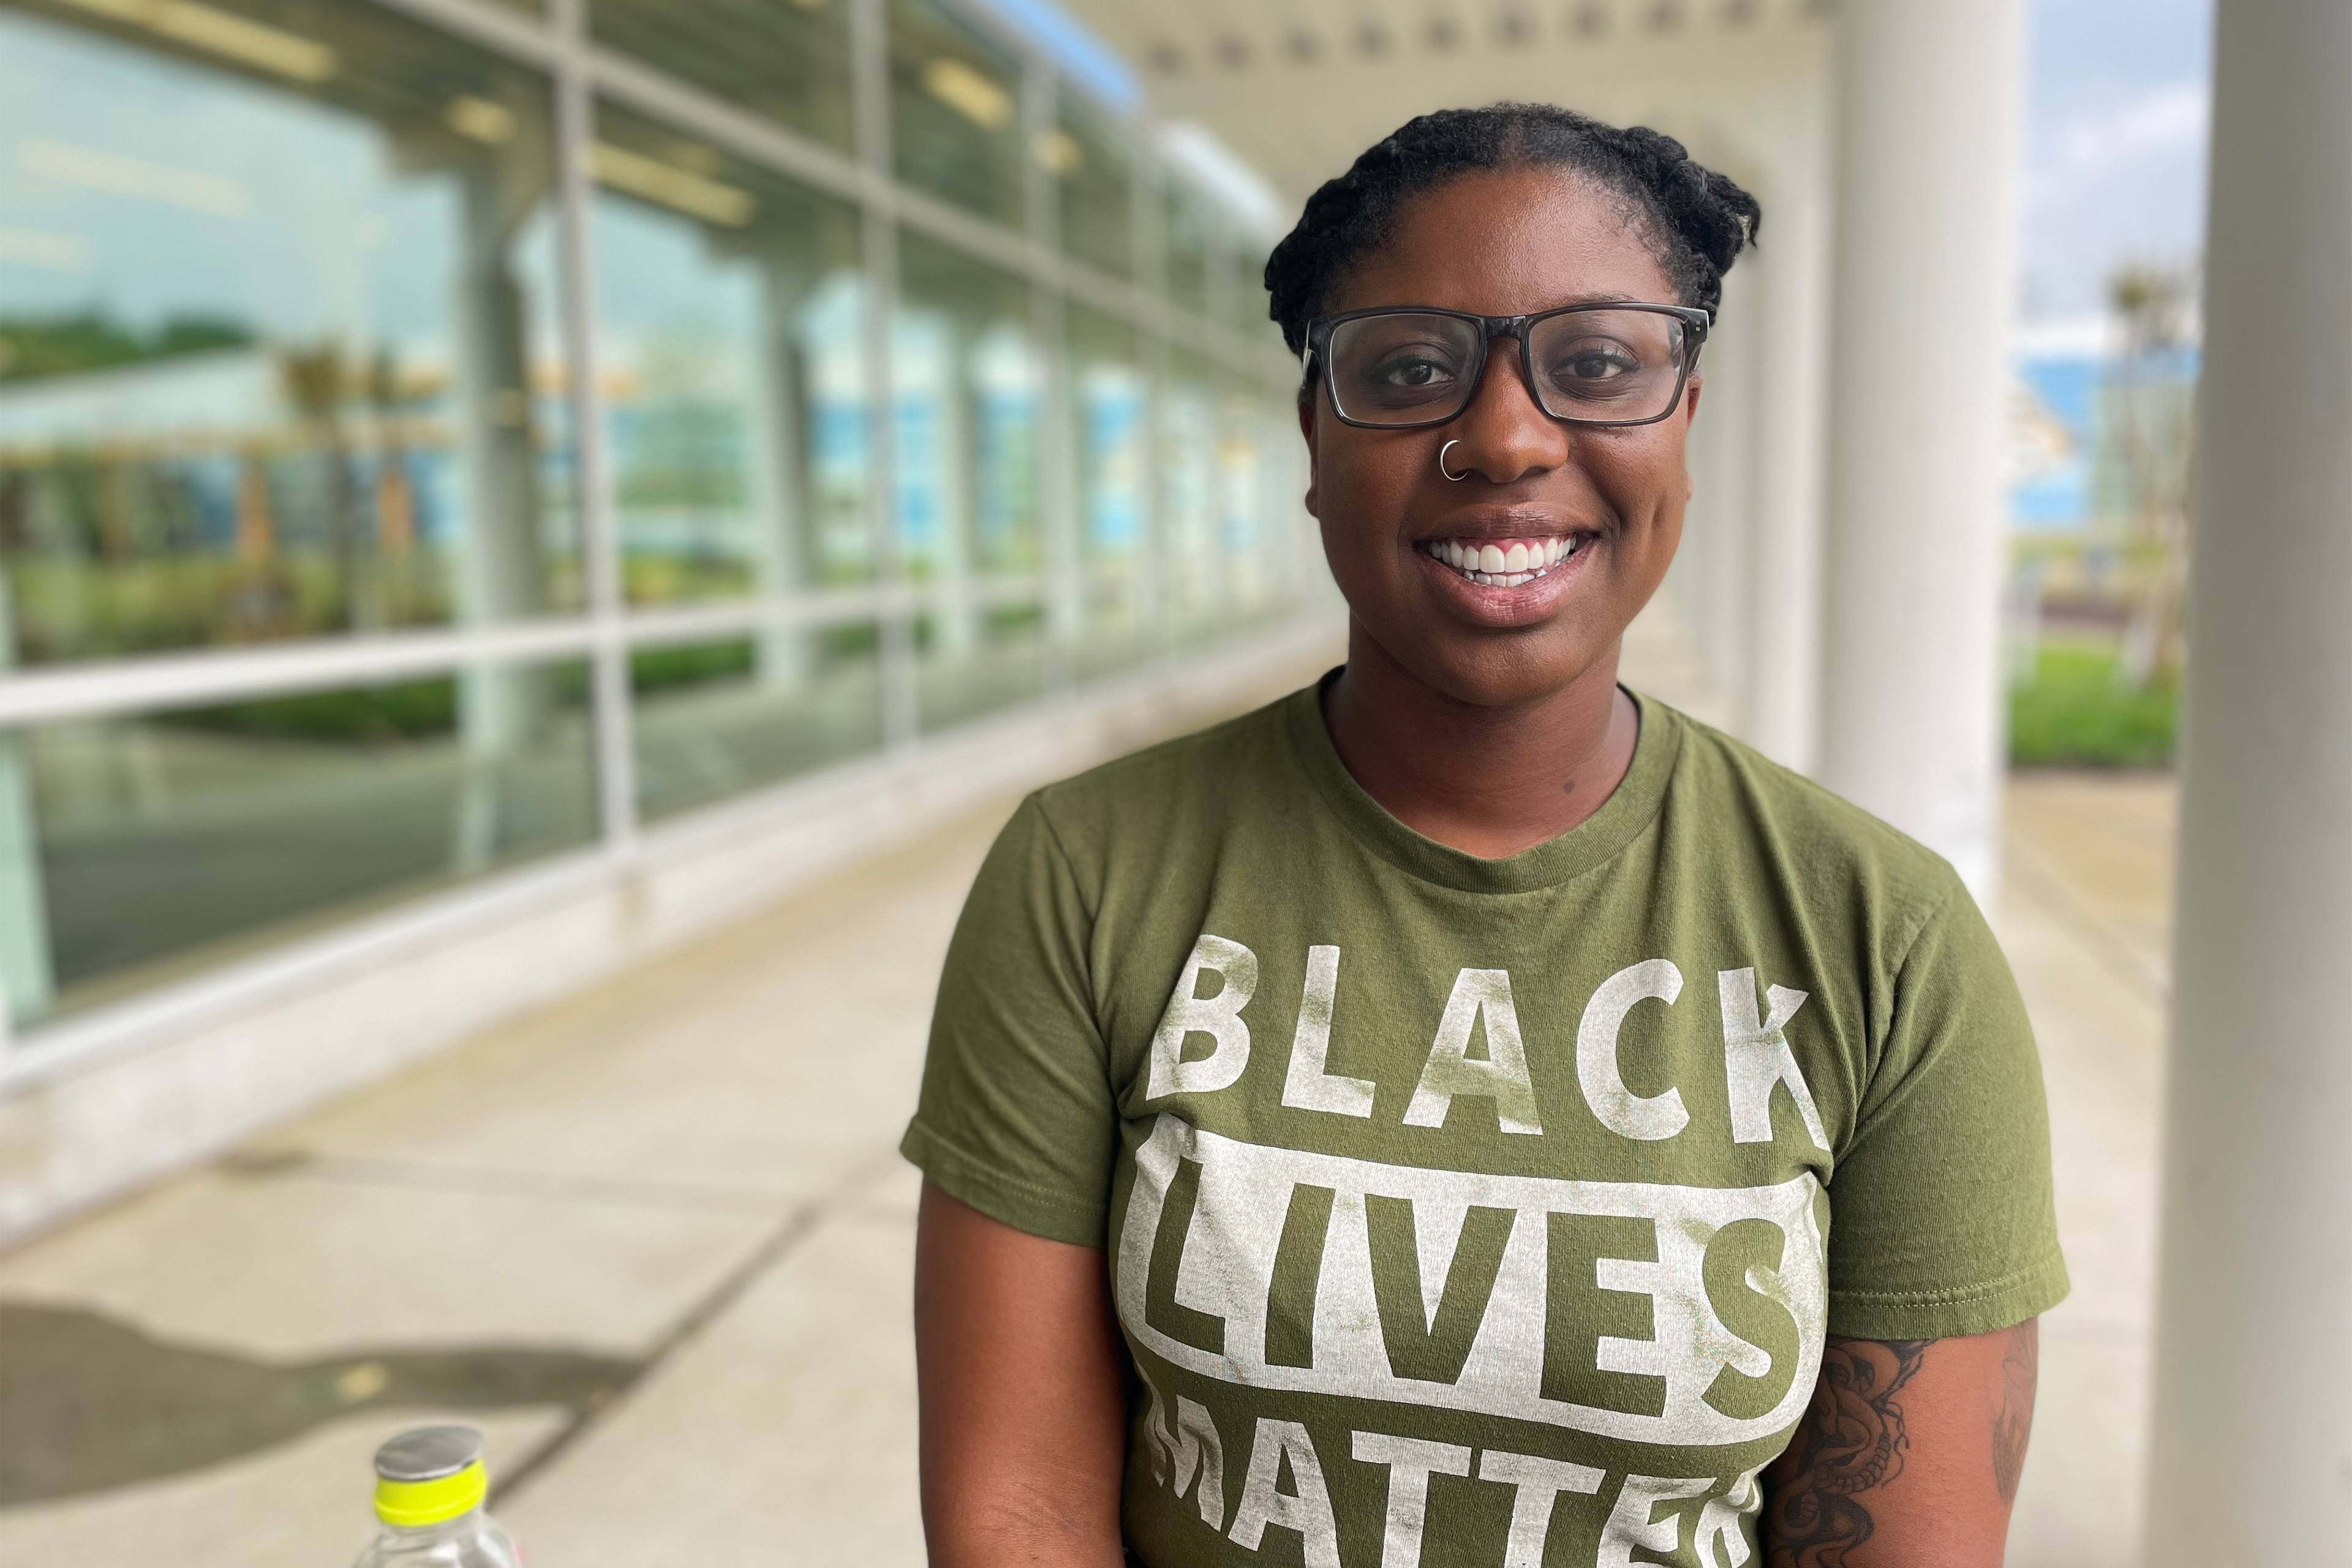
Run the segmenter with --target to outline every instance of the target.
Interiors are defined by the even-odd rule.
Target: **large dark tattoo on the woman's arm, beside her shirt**
[[[1820,1352],[1820,1382],[1797,1436],[1773,1469],[1766,1500],[1771,1568],[1844,1568],[1870,1540],[1860,1493],[1903,1474],[1903,1406],[1896,1394],[1933,1340],[1839,1340]]]

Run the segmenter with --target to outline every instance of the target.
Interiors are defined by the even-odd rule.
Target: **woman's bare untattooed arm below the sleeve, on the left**
[[[1127,1399],[1098,1248],[924,1182],[915,1378],[934,1566],[1117,1563]]]

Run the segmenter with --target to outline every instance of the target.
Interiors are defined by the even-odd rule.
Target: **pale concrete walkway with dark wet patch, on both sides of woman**
[[[0,1258],[0,1561],[334,1563],[489,1434],[534,1563],[917,1563],[894,1143],[1009,802]],[[2074,1295],[2011,1563],[2136,1561],[2171,790],[2011,790]]]

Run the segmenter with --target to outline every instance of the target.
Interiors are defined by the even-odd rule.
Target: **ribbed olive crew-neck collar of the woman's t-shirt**
[[[1331,670],[1312,686],[1294,693],[1287,705],[1289,733],[1298,762],[1315,790],[1331,804],[1338,818],[1362,844],[1392,865],[1463,893],[1529,893],[1581,877],[1595,865],[1613,858],[1632,844],[1658,806],[1665,802],[1665,785],[1682,752],[1682,715],[1663,703],[1653,703],[1637,691],[1628,691],[1639,712],[1639,733],[1632,745],[1632,764],[1625,778],[1611,790],[1602,809],[1557,839],[1545,839],[1515,856],[1486,860],[1451,844],[1423,837],[1388,813],[1388,806],[1364,792],[1324,726],[1322,698],[1331,682]]]

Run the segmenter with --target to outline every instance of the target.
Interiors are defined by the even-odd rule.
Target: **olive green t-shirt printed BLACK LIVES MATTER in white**
[[[906,1154],[1098,1246],[1152,1568],[1757,1561],[1823,1335],[2065,1295],[2042,1072],[1933,853],[1639,701],[1482,860],[1319,689],[1021,804]]]

